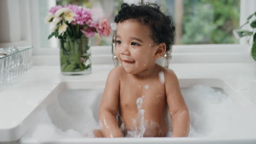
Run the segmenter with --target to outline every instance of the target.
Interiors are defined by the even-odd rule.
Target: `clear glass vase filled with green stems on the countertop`
[[[63,75],[91,74],[90,39],[60,39],[60,65]]]

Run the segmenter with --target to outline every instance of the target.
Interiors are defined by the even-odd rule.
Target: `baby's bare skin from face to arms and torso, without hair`
[[[143,136],[166,136],[166,107],[172,118],[172,137],[188,136],[189,112],[178,79],[172,70],[155,63],[164,55],[166,45],[156,44],[151,35],[150,29],[136,20],[118,23],[115,54],[121,66],[108,75],[98,114],[104,137],[124,136],[116,119],[118,110],[125,130],[141,131],[144,126]],[[164,72],[164,83],[159,80],[160,71]],[[143,122],[136,104],[142,97]]]

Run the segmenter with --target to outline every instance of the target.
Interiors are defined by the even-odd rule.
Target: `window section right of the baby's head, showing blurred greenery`
[[[237,44],[232,30],[239,27],[240,0],[156,1],[172,15],[175,44]]]

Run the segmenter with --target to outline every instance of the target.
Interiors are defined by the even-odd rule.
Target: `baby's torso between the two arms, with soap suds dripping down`
[[[169,130],[165,85],[159,81],[158,75],[164,68],[157,67],[158,70],[155,70],[153,75],[142,79],[126,74],[123,68],[118,68],[121,71],[120,115],[126,130],[135,130],[135,127],[139,128],[139,125],[143,124],[146,128],[144,137],[166,136]],[[136,100],[142,97],[143,123],[140,122],[141,117],[138,117],[138,105],[136,104]],[[136,124],[133,123],[133,119],[136,119]]]

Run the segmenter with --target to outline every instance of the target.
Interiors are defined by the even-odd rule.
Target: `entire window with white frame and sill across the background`
[[[9,27],[16,27],[15,31],[14,29],[7,31],[9,27],[5,26],[8,26],[8,21],[5,19],[0,21],[1,26],[4,26],[4,28],[0,28],[0,32],[4,35],[4,37],[3,35],[0,37],[0,47],[8,44],[33,45],[33,55],[57,56],[59,52],[57,40],[47,39],[50,33],[49,27],[43,23],[51,7],[56,4],[67,3],[79,4],[83,7],[100,5],[99,7],[113,22],[114,15],[123,2],[137,4],[139,0],[24,0],[22,2],[19,0],[1,0],[0,5],[3,13],[0,15],[10,21]],[[176,43],[173,46],[173,53],[176,56],[186,56],[186,58],[191,56],[193,57],[191,59],[194,59],[201,55],[202,57],[205,56],[205,53],[218,56],[221,53],[223,58],[232,56],[235,61],[237,61],[237,56],[249,56],[249,47],[246,40],[236,40],[231,30],[239,25],[241,26],[245,23],[248,15],[254,13],[256,1],[144,0],[144,2],[157,2],[163,11],[168,9],[168,13],[174,18]],[[13,40],[5,43],[3,38],[7,36],[10,36]],[[16,38],[19,39],[15,40]],[[104,39],[98,39],[96,36],[91,40],[92,46],[95,47],[92,49],[92,53],[106,55],[111,59],[111,40],[112,34],[108,38],[104,37]],[[190,55],[191,52],[198,55]],[[175,57],[175,55],[173,56]],[[215,61],[216,57],[212,56],[212,58]],[[196,62],[199,62],[199,60]]]

